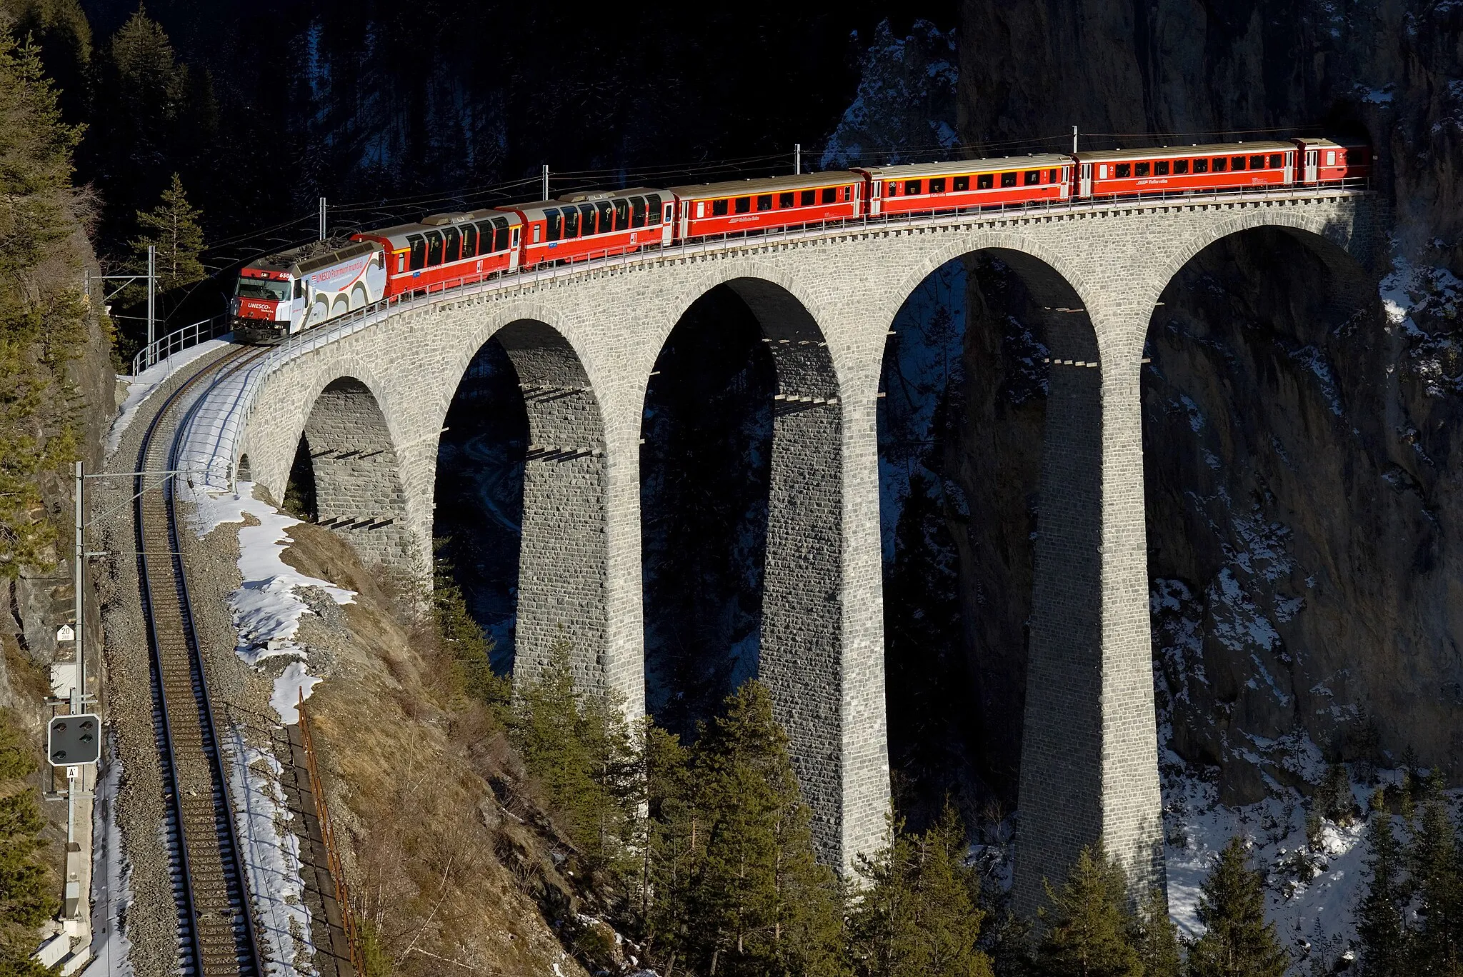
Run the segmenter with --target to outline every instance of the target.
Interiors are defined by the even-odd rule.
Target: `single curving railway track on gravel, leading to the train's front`
[[[257,355],[262,351],[237,350],[178,386],[148,426],[136,471],[174,469],[189,393]],[[133,515],[180,971],[193,977],[265,977],[243,850],[234,831],[228,761],[215,731],[183,572],[174,486],[176,477],[167,477],[159,490],[149,486],[148,475],[138,475]]]

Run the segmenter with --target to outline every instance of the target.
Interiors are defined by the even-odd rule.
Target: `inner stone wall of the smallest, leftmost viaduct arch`
[[[306,404],[300,437],[310,446],[319,524],[344,535],[364,562],[414,573],[421,554],[376,393],[347,374],[323,383]]]

